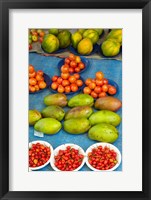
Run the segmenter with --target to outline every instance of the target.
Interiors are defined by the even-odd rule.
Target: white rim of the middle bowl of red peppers
[[[65,150],[67,146],[70,146],[70,147],[73,147],[73,148],[79,150],[79,153],[82,154],[82,155],[84,155],[84,158],[83,158],[83,161],[82,161],[81,165],[80,165],[78,168],[76,168],[75,170],[73,170],[73,171],[78,171],[78,170],[80,170],[80,169],[83,167],[83,165],[85,164],[86,155],[85,155],[84,150],[83,150],[80,146],[78,146],[78,145],[76,145],[76,144],[67,143],[67,144],[63,144],[63,145],[58,146],[58,147],[54,150],[54,152],[53,152],[53,157],[52,157],[52,159],[51,159],[50,162],[51,162],[51,167],[52,167],[55,171],[61,171],[61,172],[62,172],[62,170],[58,169],[58,168],[55,166],[55,164],[54,164],[54,163],[55,163],[54,157],[58,154],[59,150]],[[73,171],[67,171],[67,172],[73,172]],[[63,172],[66,172],[66,171],[63,171]]]

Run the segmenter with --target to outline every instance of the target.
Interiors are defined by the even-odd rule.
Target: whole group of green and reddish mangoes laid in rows
[[[113,143],[119,135],[116,126],[120,124],[121,117],[111,110],[121,107],[118,101],[114,97],[106,97],[103,101],[106,110],[94,112],[92,106],[101,109],[102,101],[94,103],[93,97],[88,94],[78,94],[69,100],[65,94],[51,94],[44,98],[47,107],[41,113],[37,110],[29,111],[29,124],[34,125],[38,132],[56,134],[62,128],[60,121],[64,119],[63,129],[69,134],[88,132],[92,140]],[[62,108],[65,106],[70,107],[66,113]]]

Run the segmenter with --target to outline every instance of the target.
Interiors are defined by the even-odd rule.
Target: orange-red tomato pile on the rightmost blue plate
[[[103,72],[96,72],[96,78],[87,78],[86,87],[83,89],[84,94],[89,94],[93,98],[105,97],[108,94],[116,94],[116,88],[108,84],[108,79],[104,78]]]

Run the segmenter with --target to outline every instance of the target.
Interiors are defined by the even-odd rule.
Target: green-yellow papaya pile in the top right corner
[[[120,52],[122,45],[122,29],[112,29],[105,41],[101,45],[101,50],[104,56],[116,56]]]

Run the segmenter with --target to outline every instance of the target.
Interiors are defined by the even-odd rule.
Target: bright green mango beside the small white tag
[[[36,131],[50,135],[56,134],[61,129],[61,127],[62,127],[61,123],[54,118],[40,119],[34,125],[34,129]]]

